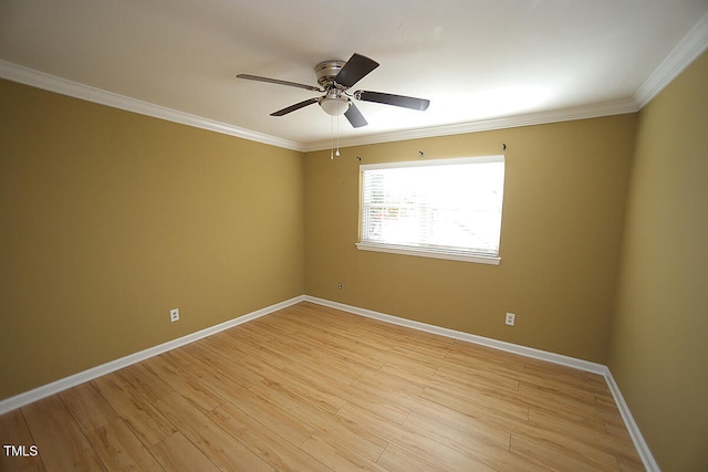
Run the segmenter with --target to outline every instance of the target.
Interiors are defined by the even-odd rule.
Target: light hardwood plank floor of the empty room
[[[0,470],[639,471],[603,377],[310,303],[0,416]]]

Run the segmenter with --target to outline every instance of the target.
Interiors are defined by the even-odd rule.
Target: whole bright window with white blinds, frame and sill
[[[503,156],[360,170],[358,249],[499,264]]]

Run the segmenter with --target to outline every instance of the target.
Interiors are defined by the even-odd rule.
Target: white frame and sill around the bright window
[[[504,167],[504,174],[502,175],[502,183],[501,183],[502,214],[500,220],[499,248],[496,254],[488,254],[488,253],[473,252],[473,251],[467,251],[467,250],[446,249],[446,248],[412,247],[412,245],[402,245],[402,244],[393,244],[393,243],[376,243],[372,241],[362,241],[364,171],[377,170],[377,169],[406,168],[406,167],[439,167],[439,166],[447,166],[447,165],[485,164],[485,162],[501,162],[502,166]],[[504,155],[481,156],[481,157],[460,157],[460,158],[449,158],[449,159],[431,159],[431,160],[420,160],[420,161],[362,164],[360,165],[358,242],[356,243],[356,249],[361,251],[385,252],[385,253],[392,253],[392,254],[403,254],[403,255],[413,255],[413,256],[420,256],[420,258],[434,258],[434,259],[445,259],[445,260],[452,260],[452,261],[499,265],[501,262],[501,255],[499,254],[499,251],[501,249],[501,225],[503,223],[504,182],[506,182],[506,156]]]

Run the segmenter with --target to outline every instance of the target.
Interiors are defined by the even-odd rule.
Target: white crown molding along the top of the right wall
[[[708,13],[684,36],[658,67],[634,94],[634,102],[644,108],[708,48]]]

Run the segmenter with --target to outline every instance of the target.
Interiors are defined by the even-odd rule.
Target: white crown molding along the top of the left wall
[[[43,72],[2,60],[0,60],[0,77],[49,92],[67,95],[87,102],[94,102],[114,108],[125,109],[127,112],[138,113],[140,115],[152,116],[154,118],[179,123],[195,128],[208,129],[285,149],[298,151],[303,150],[300,143],[252,132],[227,123],[216,122],[214,119],[204,118],[201,116],[191,115],[189,113],[179,112],[136,98],[131,98],[125,95],[115,94],[113,92],[84,85],[79,82],[67,81],[66,78],[45,74]]]

